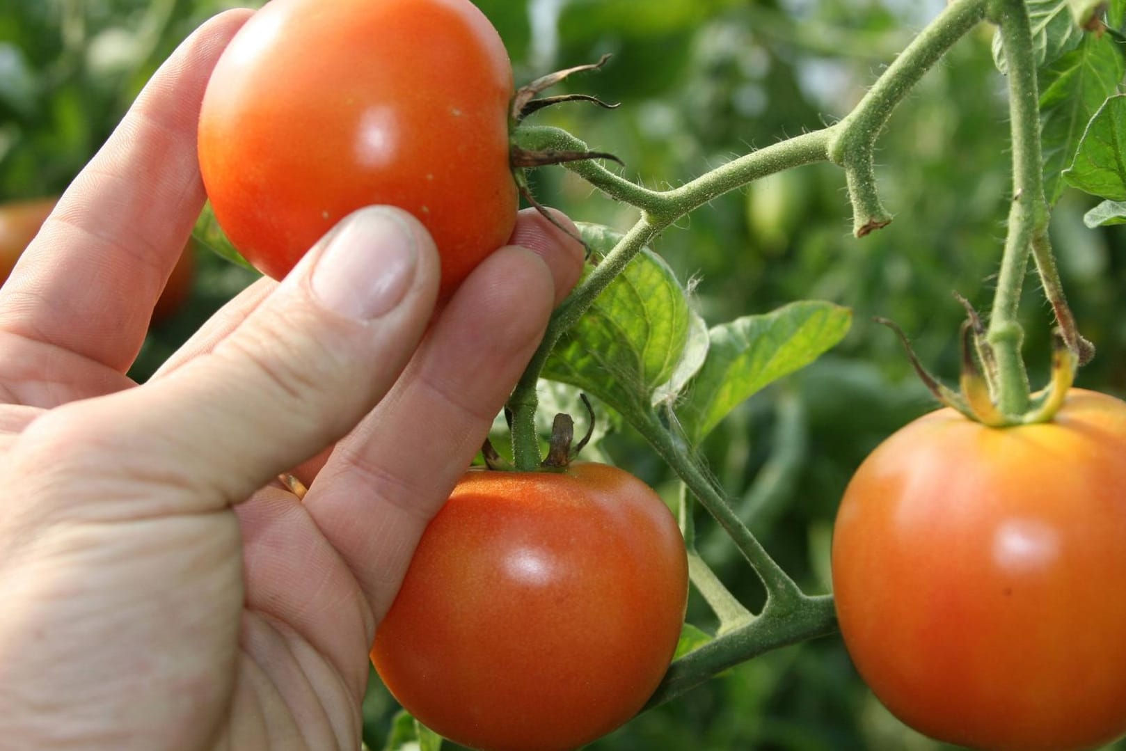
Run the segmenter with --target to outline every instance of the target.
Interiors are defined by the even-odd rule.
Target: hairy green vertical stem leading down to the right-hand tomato
[[[1018,316],[1020,293],[1033,239],[1047,231],[1048,209],[1044,198],[1039,89],[1028,8],[1024,0],[994,0],[991,11],[1000,26],[1009,69],[1013,198],[986,338],[997,356],[998,408],[1013,419],[1029,408],[1028,374],[1020,356],[1024,341]]]

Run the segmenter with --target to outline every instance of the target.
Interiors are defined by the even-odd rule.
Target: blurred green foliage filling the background
[[[501,30],[518,81],[614,53],[561,89],[622,102],[571,104],[535,115],[623,159],[624,176],[668,187],[756,146],[843,116],[941,0],[477,0]],[[0,0],[0,199],[55,194],[113,131],[144,81],[223,0]],[[253,3],[251,3],[253,5]],[[881,188],[895,222],[850,234],[841,172],[795,170],[715,199],[655,243],[692,279],[709,324],[798,298],[854,309],[848,339],[815,365],[756,396],[704,446],[717,480],[768,549],[806,587],[828,591],[838,499],[881,439],[931,408],[895,338],[868,323],[899,322],[921,359],[956,375],[958,290],[988,311],[1011,179],[1004,84],[990,30],[964,39],[901,106],[881,140]],[[315,51],[311,51],[315,56]],[[539,170],[538,199],[575,220],[626,230],[636,218],[558,168]],[[1092,199],[1069,190],[1053,217],[1065,287],[1099,347],[1082,386],[1126,391],[1126,234],[1088,230]],[[154,331],[143,378],[253,275],[211,254],[189,306]],[[1026,355],[1046,375],[1049,311],[1034,279],[1024,306]],[[670,473],[624,430],[604,449],[674,494]],[[707,519],[704,555],[749,605],[750,570]],[[699,602],[694,623],[708,625]],[[908,659],[909,655],[905,655]],[[378,680],[365,703],[367,739],[383,748],[396,707]],[[837,638],[788,647],[731,670],[591,746],[680,749],[939,748],[906,731],[872,698]]]

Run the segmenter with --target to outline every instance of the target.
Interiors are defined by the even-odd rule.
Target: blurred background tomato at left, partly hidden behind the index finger
[[[59,198],[52,196],[0,204],[0,285],[16,267],[16,260],[38,234],[39,227],[47,221],[56,203]],[[191,293],[194,276],[195,251],[189,240],[172,268],[164,292],[157,301],[152,312],[153,323],[171,318],[184,307]]]

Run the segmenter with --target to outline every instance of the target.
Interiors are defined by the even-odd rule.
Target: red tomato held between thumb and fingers
[[[274,278],[352,211],[404,208],[434,235],[445,298],[516,223],[511,96],[504,45],[470,0],[271,0],[207,86],[207,195]]]

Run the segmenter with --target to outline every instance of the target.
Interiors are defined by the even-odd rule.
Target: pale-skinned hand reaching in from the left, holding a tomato
[[[521,214],[431,320],[429,235],[367,208],[129,381],[249,16],[181,45],[0,288],[0,749],[358,749],[376,625],[580,274]],[[303,463],[302,501],[271,479]]]

